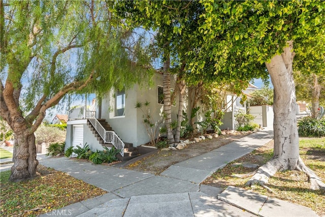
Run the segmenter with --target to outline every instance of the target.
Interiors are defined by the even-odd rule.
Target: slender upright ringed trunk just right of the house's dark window
[[[167,128],[167,138],[169,143],[174,142],[174,135],[171,129],[172,123],[172,104],[171,104],[171,74],[169,72],[170,68],[170,57],[169,54],[166,55],[166,60],[164,62],[164,75],[163,75],[163,89],[164,89],[164,112],[166,119]]]

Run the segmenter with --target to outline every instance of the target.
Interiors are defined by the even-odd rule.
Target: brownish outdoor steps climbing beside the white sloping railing
[[[98,121],[101,123],[101,125],[105,128],[106,131],[113,131],[111,126],[106,122],[105,119],[98,119]],[[92,134],[94,137],[99,141],[99,143],[103,147],[113,147],[113,144],[111,143],[105,143],[102,137],[98,134],[98,132],[95,130],[95,128],[91,125],[90,121],[87,121],[87,125],[89,126]],[[140,156],[139,150],[137,147],[133,147],[132,143],[124,142],[124,156],[122,157],[121,154],[118,154],[117,157],[120,161],[125,162],[128,160],[131,160],[133,158],[136,158]]]

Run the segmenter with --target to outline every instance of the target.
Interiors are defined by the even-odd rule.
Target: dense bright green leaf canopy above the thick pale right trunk
[[[324,2],[319,1],[200,1],[202,36],[188,52],[192,72],[204,69],[205,59],[215,62],[215,75],[234,81],[266,78],[265,65],[290,40],[295,52],[324,35]],[[320,50],[318,50],[320,51]]]

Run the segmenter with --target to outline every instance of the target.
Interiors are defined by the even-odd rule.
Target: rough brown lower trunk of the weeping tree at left
[[[36,159],[36,145],[34,133],[15,132],[14,165],[11,168],[11,181],[23,181],[34,178],[39,164]]]

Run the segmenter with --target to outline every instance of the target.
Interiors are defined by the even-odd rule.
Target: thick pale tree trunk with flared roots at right
[[[299,157],[296,90],[292,67],[295,54],[291,52],[293,42],[289,41],[288,44],[281,55],[275,55],[270,63],[266,63],[274,86],[274,156],[271,161],[259,167],[246,184],[258,183],[266,187],[269,177],[277,171],[297,169],[306,172],[312,189],[325,188],[320,178]]]

